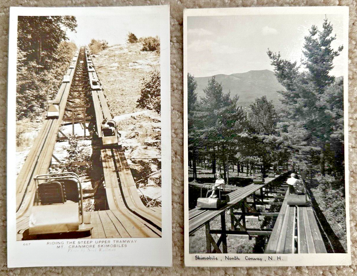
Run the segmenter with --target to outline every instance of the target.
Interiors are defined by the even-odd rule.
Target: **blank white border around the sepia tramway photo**
[[[156,14],[160,17],[160,71],[161,71],[161,139],[162,147],[162,237],[80,239],[134,241],[117,251],[68,252],[47,245],[50,241],[16,241],[16,176],[11,164],[16,164],[16,45],[17,16],[49,15],[117,15],[120,12],[135,16]],[[9,29],[9,73],[7,85],[7,266],[172,266],[171,227],[171,104],[170,104],[170,6],[127,7],[11,7]]]

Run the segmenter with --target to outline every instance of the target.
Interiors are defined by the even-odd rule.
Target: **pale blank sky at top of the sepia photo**
[[[76,16],[77,32],[67,31],[67,36],[78,46],[88,45],[92,38],[106,40],[109,45],[126,42],[128,32],[137,38],[160,35],[160,16],[155,14],[118,14],[100,16]]]

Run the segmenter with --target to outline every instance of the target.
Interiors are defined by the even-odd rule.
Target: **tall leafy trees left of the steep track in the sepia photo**
[[[16,117],[40,115],[57,93],[76,50],[66,30],[74,16],[19,16],[17,25]]]

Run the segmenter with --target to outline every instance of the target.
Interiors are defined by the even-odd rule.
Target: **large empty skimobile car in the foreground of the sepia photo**
[[[37,175],[35,205],[29,235],[90,231],[90,216],[83,210],[81,181],[74,172]]]

